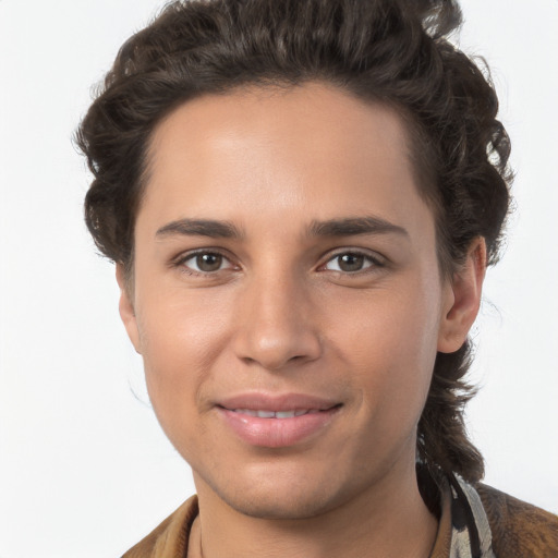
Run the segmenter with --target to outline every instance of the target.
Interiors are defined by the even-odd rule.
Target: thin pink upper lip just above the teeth
[[[221,399],[217,402],[218,407],[223,409],[250,409],[253,411],[298,411],[298,410],[317,410],[327,411],[341,403],[328,398],[308,396],[304,393],[264,393],[250,392],[232,396]]]

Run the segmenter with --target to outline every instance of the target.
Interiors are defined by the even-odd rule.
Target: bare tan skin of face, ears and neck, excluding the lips
[[[207,95],[156,129],[120,311],[194,473],[190,556],[429,555],[437,520],[417,490],[416,424],[437,351],[459,349],[476,316],[486,256],[478,239],[440,276],[414,174],[392,109],[318,83]],[[371,217],[404,232],[312,230]],[[183,219],[239,235],[192,233]],[[338,409],[302,441],[253,446],[216,408],[246,391]]]

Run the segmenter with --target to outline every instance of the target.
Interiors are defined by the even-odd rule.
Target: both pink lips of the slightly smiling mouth
[[[320,433],[332,422],[341,407],[339,401],[302,393],[244,393],[218,402],[216,409],[225,423],[244,442],[266,448],[283,448]],[[254,416],[254,412],[258,411],[308,412],[279,418]]]

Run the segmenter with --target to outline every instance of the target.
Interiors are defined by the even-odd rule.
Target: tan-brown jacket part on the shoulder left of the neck
[[[122,558],[182,558],[197,512],[197,497],[192,496]]]

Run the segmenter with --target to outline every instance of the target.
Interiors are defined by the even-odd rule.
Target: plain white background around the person
[[[92,84],[160,5],[0,0],[0,558],[120,556],[193,492],[86,234],[71,144]],[[558,512],[558,1],[463,10],[461,45],[493,68],[518,172],[470,428],[489,484]]]

